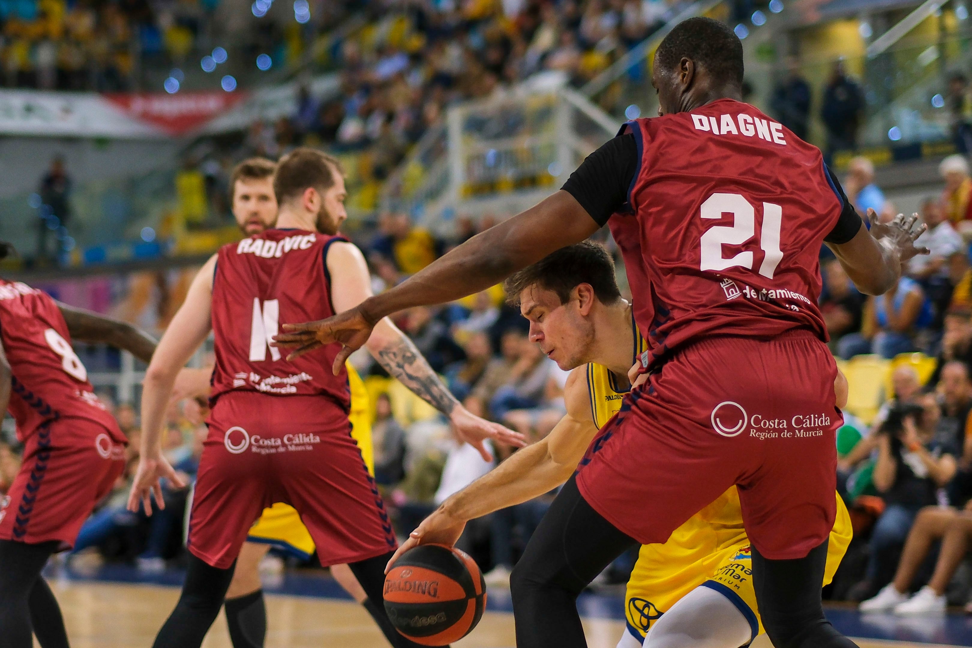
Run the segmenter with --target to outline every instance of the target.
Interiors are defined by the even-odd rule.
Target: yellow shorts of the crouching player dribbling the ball
[[[677,533],[678,530],[675,531]],[[851,544],[851,516],[838,496],[837,519],[830,532],[827,548],[827,565],[822,585],[829,585],[840,565],[848,545]],[[647,545],[645,545],[647,546]],[[642,555],[644,547],[642,547]],[[714,565],[714,567],[713,567]],[[746,617],[752,631],[752,639],[763,632],[763,625],[756,606],[756,593],[752,587],[752,554],[749,541],[741,541],[723,549],[717,555],[691,565],[668,565],[666,571],[648,569],[642,557],[632,570],[625,595],[625,617],[628,631],[642,643],[652,624],[675,603],[697,587],[708,587],[728,598]],[[669,578],[674,576],[674,578]]]

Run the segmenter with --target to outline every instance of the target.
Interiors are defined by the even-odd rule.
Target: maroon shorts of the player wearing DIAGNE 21
[[[642,544],[733,484],[752,544],[803,558],[836,515],[837,367],[809,332],[714,337],[685,348],[630,393],[581,461],[577,486]]]

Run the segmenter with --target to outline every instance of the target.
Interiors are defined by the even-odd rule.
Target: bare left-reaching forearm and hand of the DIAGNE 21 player
[[[598,227],[573,195],[561,189],[522,214],[473,236],[392,290],[368,297],[329,320],[284,324],[288,332],[276,339],[297,347],[291,358],[316,348],[311,344],[315,340],[342,343],[345,349],[334,361],[336,373],[382,318],[412,306],[440,304],[486,290],[544,256],[583,241]]]

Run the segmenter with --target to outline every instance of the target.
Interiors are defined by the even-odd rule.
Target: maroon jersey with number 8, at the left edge
[[[87,382],[87,369],[71,348],[64,316],[50,295],[0,279],[0,338],[14,374],[9,410],[20,441],[46,422],[80,417],[104,426],[115,442],[125,442]]]

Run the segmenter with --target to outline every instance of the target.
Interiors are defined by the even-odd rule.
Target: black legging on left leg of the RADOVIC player
[[[190,554],[182,595],[153,648],[199,648],[223,607],[235,566],[233,562],[228,569],[218,569]]]

